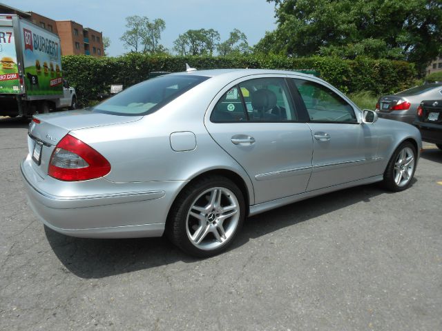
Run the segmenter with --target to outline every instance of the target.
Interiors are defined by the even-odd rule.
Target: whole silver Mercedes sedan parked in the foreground
[[[75,237],[166,234],[209,257],[244,218],[334,190],[412,183],[419,130],[329,83],[276,70],[156,77],[87,110],[35,115],[21,173],[30,207]]]

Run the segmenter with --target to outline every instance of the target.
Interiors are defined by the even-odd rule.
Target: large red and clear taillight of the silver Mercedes
[[[110,171],[111,164],[102,154],[70,134],[55,146],[48,168],[49,176],[61,181],[86,181]]]

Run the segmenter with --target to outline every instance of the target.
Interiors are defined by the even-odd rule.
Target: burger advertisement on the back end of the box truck
[[[20,92],[19,69],[12,27],[0,27],[0,93]]]

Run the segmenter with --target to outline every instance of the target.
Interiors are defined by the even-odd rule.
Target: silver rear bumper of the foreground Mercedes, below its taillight
[[[69,183],[64,189],[61,185],[58,192],[42,190],[45,179],[30,162],[27,158],[21,163],[30,208],[49,228],[73,237],[160,237],[176,192],[185,184],[164,181],[153,183],[151,190],[72,196],[66,189]]]

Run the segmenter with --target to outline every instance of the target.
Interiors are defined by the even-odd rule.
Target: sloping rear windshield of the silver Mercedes
[[[93,112],[140,116],[151,114],[209,77],[165,75],[148,79],[90,108]]]

